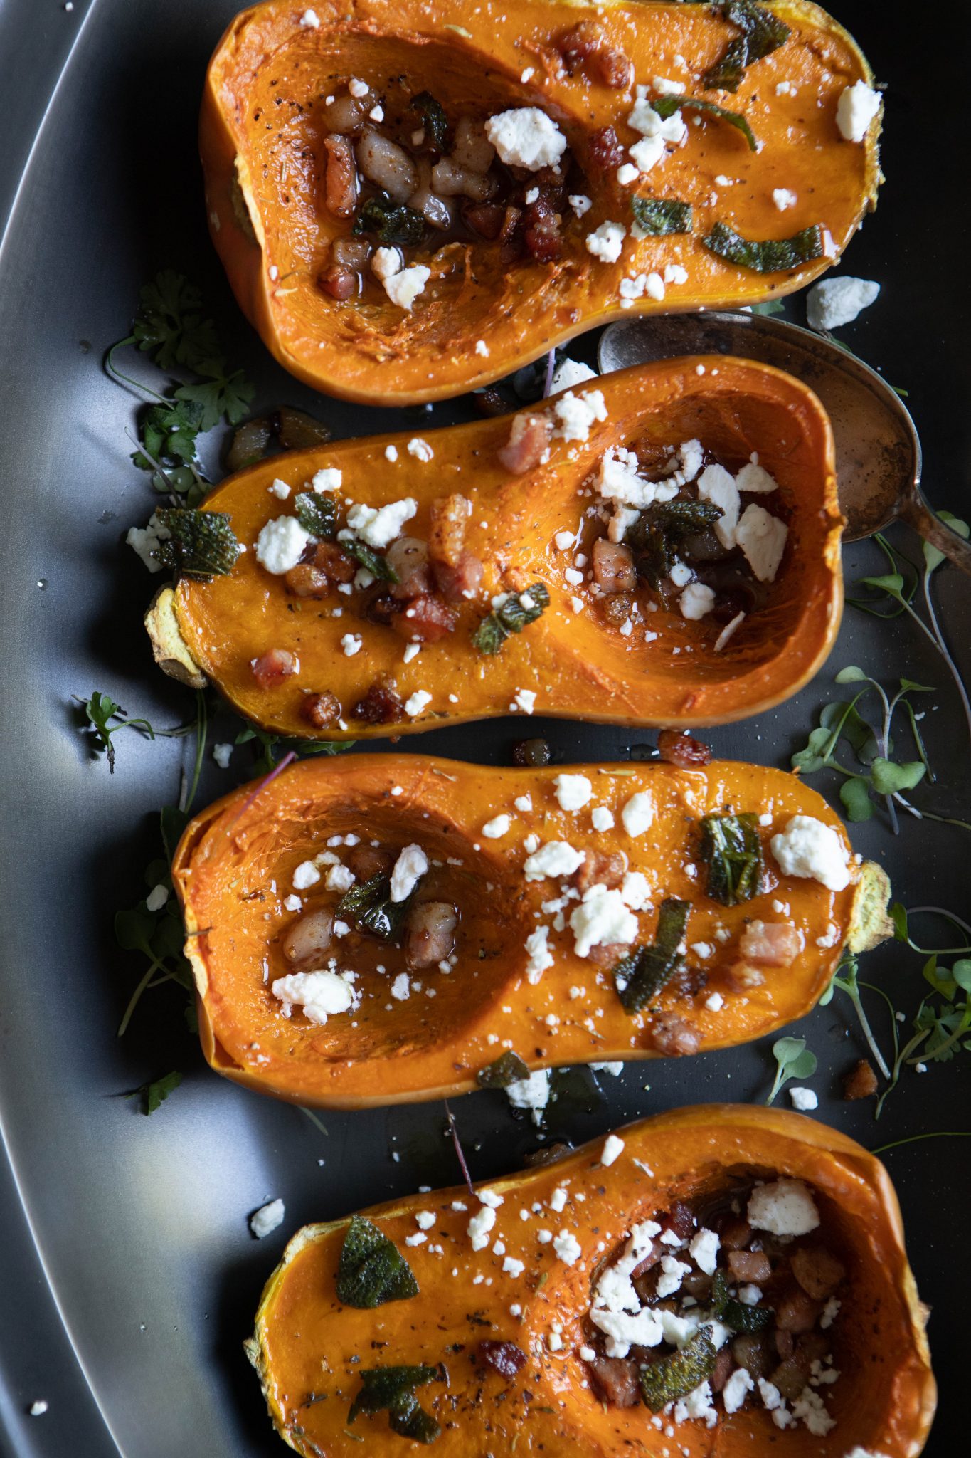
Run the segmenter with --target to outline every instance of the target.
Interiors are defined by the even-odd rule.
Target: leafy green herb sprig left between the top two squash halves
[[[156,491],[175,491],[195,506],[207,481],[197,453],[198,436],[220,420],[237,424],[253,398],[253,385],[242,370],[230,370],[220,350],[213,319],[202,313],[202,296],[182,274],[166,268],[146,284],[131,334],[108,350],[105,367],[112,378],[151,397],[138,421],[140,449],[134,464],[151,471]],[[118,350],[135,346],[160,370],[186,369],[191,382],[176,382],[165,394],[143,385],[115,364]]]

